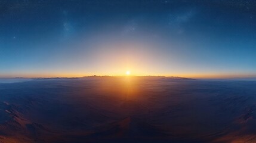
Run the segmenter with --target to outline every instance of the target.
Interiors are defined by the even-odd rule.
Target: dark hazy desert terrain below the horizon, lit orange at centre
[[[87,77],[0,83],[0,142],[256,142],[256,82]]]

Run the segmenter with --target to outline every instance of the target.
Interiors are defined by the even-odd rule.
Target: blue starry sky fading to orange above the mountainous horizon
[[[0,77],[256,77],[256,1],[0,1]]]

